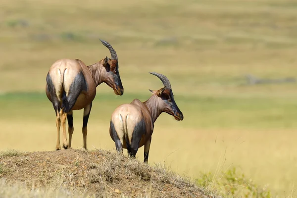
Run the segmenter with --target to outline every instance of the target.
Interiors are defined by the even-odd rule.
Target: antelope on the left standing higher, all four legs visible
[[[73,128],[72,110],[84,108],[83,138],[84,148],[87,149],[87,124],[92,108],[92,101],[96,96],[96,87],[102,82],[114,90],[116,95],[122,96],[122,86],[118,71],[118,58],[115,50],[106,41],[102,44],[109,49],[111,59],[107,56],[99,62],[86,66],[79,59],[60,59],[49,68],[47,75],[46,94],[52,102],[56,114],[57,142],[56,150],[60,150],[60,126],[62,122],[63,148],[71,148]],[[66,117],[68,120],[69,144],[66,136]]]

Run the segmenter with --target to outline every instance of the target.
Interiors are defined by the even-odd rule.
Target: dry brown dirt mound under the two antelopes
[[[210,197],[162,167],[106,150],[2,153],[0,179],[20,181],[33,189],[63,188],[96,197]]]

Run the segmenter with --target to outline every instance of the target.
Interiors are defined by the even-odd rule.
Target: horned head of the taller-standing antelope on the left
[[[124,94],[124,88],[119,73],[118,57],[112,46],[100,39],[102,44],[109,49],[111,58],[107,56],[102,60],[102,65],[106,70],[103,82],[111,87],[116,95],[122,96]]]

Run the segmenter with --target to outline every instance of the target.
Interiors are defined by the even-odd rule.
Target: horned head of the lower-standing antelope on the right
[[[178,108],[177,104],[175,103],[173,92],[168,78],[156,72],[149,72],[149,73],[158,77],[164,85],[163,88],[157,91],[149,90],[151,93],[155,94],[158,97],[160,109],[163,112],[166,112],[169,115],[172,115],[178,121],[183,120],[184,115],[182,111]]]

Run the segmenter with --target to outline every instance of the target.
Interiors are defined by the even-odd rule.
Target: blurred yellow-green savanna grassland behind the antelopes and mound
[[[1,0],[0,7],[0,150],[54,150],[49,67],[110,57],[102,39],[117,52],[124,95],[98,86],[88,149],[115,150],[111,113],[160,89],[148,73],[155,71],[169,78],[184,120],[157,119],[149,164],[193,179],[236,167],[274,197],[294,197],[296,0]],[[73,148],[83,145],[82,118],[74,111]]]

